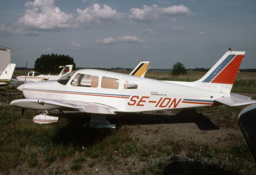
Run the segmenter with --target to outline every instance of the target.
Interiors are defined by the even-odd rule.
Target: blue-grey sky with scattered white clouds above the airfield
[[[76,67],[211,68],[228,51],[245,51],[256,68],[255,0],[0,0],[0,46],[16,67],[64,54]],[[63,66],[63,65],[60,65]]]

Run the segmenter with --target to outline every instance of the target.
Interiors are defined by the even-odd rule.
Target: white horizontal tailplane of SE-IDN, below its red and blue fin
[[[235,93],[230,93],[230,96],[228,97],[220,97],[214,100],[228,106],[240,106],[256,103],[256,100],[253,100],[252,97],[247,97]]]

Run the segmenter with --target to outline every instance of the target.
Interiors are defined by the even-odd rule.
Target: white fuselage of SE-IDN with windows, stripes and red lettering
[[[229,96],[228,93],[94,69],[78,70],[67,82],[59,79],[27,83],[22,88],[23,95],[29,99],[93,102],[107,104],[120,112],[211,106],[217,104],[215,98]]]

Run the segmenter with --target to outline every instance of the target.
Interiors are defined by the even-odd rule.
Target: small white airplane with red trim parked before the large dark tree
[[[13,79],[15,81],[21,81],[21,82],[41,82],[41,81],[47,81],[49,79],[51,80],[57,80],[60,77],[70,73],[72,71],[73,65],[66,65],[66,66],[60,66],[59,68],[63,68],[62,71],[58,76],[54,75],[43,75],[38,72],[28,72],[28,76],[17,76],[16,79]]]

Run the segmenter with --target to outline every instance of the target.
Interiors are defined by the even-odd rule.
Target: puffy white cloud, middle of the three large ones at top
[[[82,24],[89,26],[104,23],[112,24],[119,21],[121,16],[123,16],[122,13],[112,10],[106,4],[103,7],[100,7],[99,4],[93,4],[84,10],[77,8],[76,11],[78,12],[78,18],[75,20],[77,26]]]

